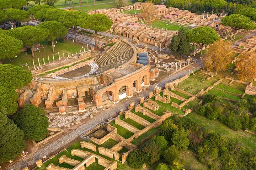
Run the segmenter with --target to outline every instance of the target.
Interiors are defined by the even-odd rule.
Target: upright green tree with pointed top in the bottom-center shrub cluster
[[[187,146],[190,143],[187,135],[188,132],[186,132],[183,127],[181,127],[180,130],[173,132],[171,141],[174,146],[176,146],[179,150],[186,150]]]

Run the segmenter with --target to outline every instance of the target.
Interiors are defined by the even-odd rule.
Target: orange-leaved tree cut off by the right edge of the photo
[[[239,56],[239,61],[235,63],[238,77],[241,80],[253,81],[256,78],[256,52],[245,52]]]

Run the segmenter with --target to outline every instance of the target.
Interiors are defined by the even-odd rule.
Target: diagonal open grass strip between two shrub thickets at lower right
[[[241,145],[250,148],[254,152],[256,151],[256,135],[252,135],[243,130],[234,131],[219,120],[210,120],[193,112],[188,114],[186,117],[196,121],[200,126],[206,129],[213,130],[213,132],[218,135],[234,139],[241,143]]]

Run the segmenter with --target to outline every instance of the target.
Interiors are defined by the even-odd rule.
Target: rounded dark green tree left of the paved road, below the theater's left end
[[[48,117],[43,109],[33,104],[26,104],[23,109],[14,115],[13,119],[23,130],[25,137],[30,140],[40,141],[48,133]]]

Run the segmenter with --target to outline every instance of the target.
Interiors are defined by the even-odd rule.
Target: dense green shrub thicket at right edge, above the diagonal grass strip
[[[215,95],[206,95],[203,103],[195,108],[195,112],[208,119],[218,119],[233,130],[249,129],[256,132],[256,98],[242,98],[237,103],[224,103]]]

